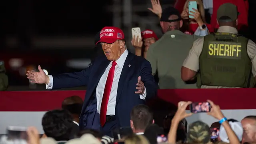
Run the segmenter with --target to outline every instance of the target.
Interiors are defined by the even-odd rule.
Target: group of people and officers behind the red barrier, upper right
[[[188,2],[190,1],[192,0],[177,1],[176,7],[181,7],[180,3],[182,3],[182,10],[173,7],[162,10],[159,0],[151,0],[152,8],[149,8],[149,10],[160,18],[160,25],[164,35],[158,40],[152,30],[146,30],[151,31],[152,34],[143,31],[142,40],[144,40],[144,47],[142,41],[136,43],[136,38],[132,40],[132,45],[136,50],[135,54],[137,56],[144,56],[150,62],[152,72],[157,76],[156,81],[159,88],[254,87],[256,45],[252,40],[245,38],[244,41],[244,48],[246,48],[245,51],[248,53],[246,57],[249,56],[247,59],[248,64],[252,66],[251,70],[249,70],[250,68],[247,69],[247,76],[244,76],[245,74],[238,74],[237,70],[245,70],[246,68],[233,65],[232,62],[223,63],[230,58],[240,59],[240,49],[238,51],[234,50],[235,53],[228,54],[228,52],[232,51],[230,45],[240,47],[240,45],[235,43],[242,42],[237,39],[242,40],[244,38],[244,36],[238,34],[238,31],[244,33],[245,30],[243,28],[248,26],[247,19],[244,20],[244,17],[248,16],[248,14],[244,13],[244,5],[236,6],[231,3],[224,3],[224,1],[220,2],[223,4],[218,4],[218,11],[214,7],[215,12],[211,13],[211,15],[216,17],[217,21],[212,17],[211,24],[208,24],[205,20],[205,12],[208,9],[204,7],[210,2],[202,3],[201,0],[196,0],[198,10],[192,15],[190,14],[194,18],[189,18]],[[214,5],[216,3],[214,2]],[[243,13],[241,14],[238,10],[242,10]],[[232,34],[233,36],[231,36]],[[146,40],[149,38],[152,40],[150,43],[146,43]],[[212,42],[213,46],[209,42]],[[148,46],[149,44],[152,45]],[[221,47],[222,45],[223,47]],[[220,53],[222,50],[223,54]],[[143,54],[141,54],[141,51],[143,51]],[[209,54],[207,54],[208,52]],[[233,57],[233,55],[237,56]],[[233,62],[236,63],[236,60]],[[180,67],[182,67],[181,74]],[[206,72],[207,70],[208,72]],[[227,84],[232,80],[233,74],[243,75],[243,78],[245,78],[244,83]]]

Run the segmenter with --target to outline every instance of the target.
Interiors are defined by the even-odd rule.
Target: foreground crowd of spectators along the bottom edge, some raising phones
[[[24,139],[21,133],[2,136],[0,144],[254,144],[256,142],[256,116],[246,116],[241,122],[227,119],[220,106],[208,100],[211,105],[208,115],[219,120],[208,126],[202,121],[192,122],[186,118],[196,113],[187,113],[192,102],[178,103],[176,113],[168,114],[163,120],[164,127],[155,124],[152,110],[140,104],[130,112],[130,126],[116,128],[111,136],[94,129],[79,129],[79,115],[83,100],[70,96],[62,102],[62,109],[50,110],[42,118],[44,134],[35,127],[27,129]]]

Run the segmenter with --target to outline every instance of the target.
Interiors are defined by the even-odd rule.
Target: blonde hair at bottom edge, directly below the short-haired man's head
[[[143,135],[131,134],[124,140],[124,144],[150,144]]]

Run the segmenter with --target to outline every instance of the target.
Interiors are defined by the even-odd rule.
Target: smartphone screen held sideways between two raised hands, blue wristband
[[[210,112],[211,105],[209,102],[193,102],[190,104],[190,111],[193,113]]]

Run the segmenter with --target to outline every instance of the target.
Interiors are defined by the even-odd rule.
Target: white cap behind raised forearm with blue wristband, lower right
[[[234,131],[234,133],[236,134],[236,136],[238,137],[239,141],[241,142],[243,137],[243,132],[244,132],[241,122],[230,121],[228,123],[232,128],[232,130]],[[228,135],[226,133],[225,128],[222,125],[220,126],[219,137],[222,142],[229,143]]]

